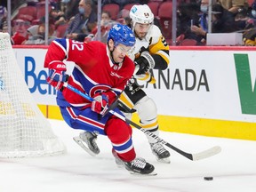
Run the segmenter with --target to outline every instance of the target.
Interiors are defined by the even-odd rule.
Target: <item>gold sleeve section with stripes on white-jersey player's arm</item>
[[[149,52],[151,54],[160,55],[165,60],[167,65],[169,64],[169,62],[170,62],[169,46],[168,46],[168,44],[166,44],[164,36],[160,36],[158,39],[158,42],[156,44],[149,45]]]

